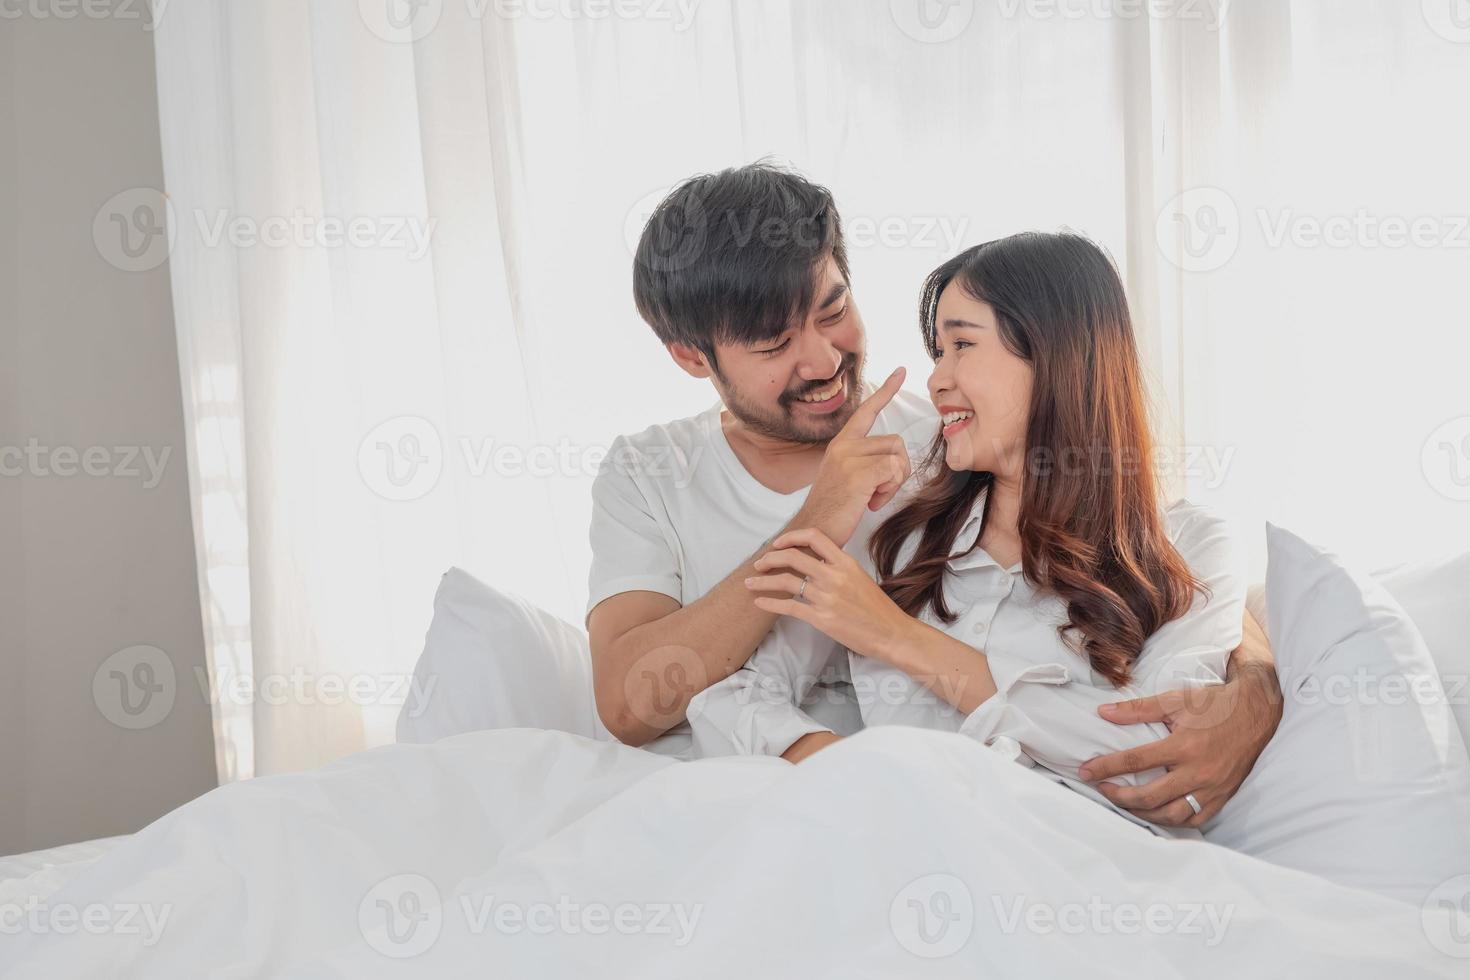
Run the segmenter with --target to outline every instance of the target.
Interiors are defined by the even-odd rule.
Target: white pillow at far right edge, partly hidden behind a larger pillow
[[[1470,551],[1374,577],[1404,605],[1423,635],[1460,735],[1470,743]]]

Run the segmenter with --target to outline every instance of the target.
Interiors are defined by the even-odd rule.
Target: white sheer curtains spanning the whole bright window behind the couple
[[[1377,272],[1354,254],[1342,275],[1335,254],[1257,254],[1247,228],[1194,270],[1170,215],[1213,228],[1208,187],[1242,215],[1463,201],[1445,98],[1416,120],[1396,96],[1463,85],[1470,48],[1404,4],[1217,7],[171,4],[159,90],[220,777],[391,741],[451,564],[581,621],[601,448],[713,397],[638,320],[631,241],[673,182],[767,154],[838,197],[875,373],[928,373],[925,272],[1066,225],[1125,267],[1167,442],[1235,448],[1226,479],[1176,467],[1176,486],[1395,557],[1408,511],[1463,522],[1419,458],[1426,420],[1466,411],[1464,341],[1439,332],[1463,253]],[[1394,364],[1436,379],[1436,404]]]

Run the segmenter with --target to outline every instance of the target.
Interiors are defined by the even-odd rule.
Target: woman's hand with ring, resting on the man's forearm
[[[745,588],[792,598],[760,595],[757,607],[810,623],[856,654],[894,663],[917,620],[898,608],[853,555],[814,527],[788,530],[770,545],[773,550],[754,563],[761,574],[745,579]]]

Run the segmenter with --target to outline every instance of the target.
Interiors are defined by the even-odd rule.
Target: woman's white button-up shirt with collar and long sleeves
[[[958,732],[1023,765],[1039,765],[1111,807],[1078,777],[1078,768],[1089,758],[1154,742],[1169,730],[1163,724],[1113,724],[1098,716],[1098,707],[1225,679],[1245,616],[1244,551],[1226,523],[1202,508],[1179,501],[1164,511],[1175,548],[1207,592],[1148,638],[1130,682],[1117,689],[1058,633],[1067,619],[1066,602],[1035,589],[1020,564],[1003,569],[975,547],[983,507],[982,494],[956,538],[956,557],[944,580],[945,601],[957,619],[942,623],[932,610],[920,619],[985,654],[995,679],[994,696],[966,716],[897,667],[847,651],[800,620],[782,619],[741,670],[689,704],[695,755],[781,755],[803,735],[831,730],[798,705],[810,707],[814,693],[839,691],[847,679],[863,726]],[[917,535],[904,544],[898,567],[916,548]],[[858,560],[873,572],[866,554]],[[817,686],[819,680],[823,686]],[[1138,785],[1161,773],[1120,776],[1114,782]]]

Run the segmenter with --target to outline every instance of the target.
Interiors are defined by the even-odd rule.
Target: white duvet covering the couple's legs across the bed
[[[904,727],[800,767],[528,729],[388,746],[218,789],[25,912],[7,977],[1470,973],[1433,908]]]

